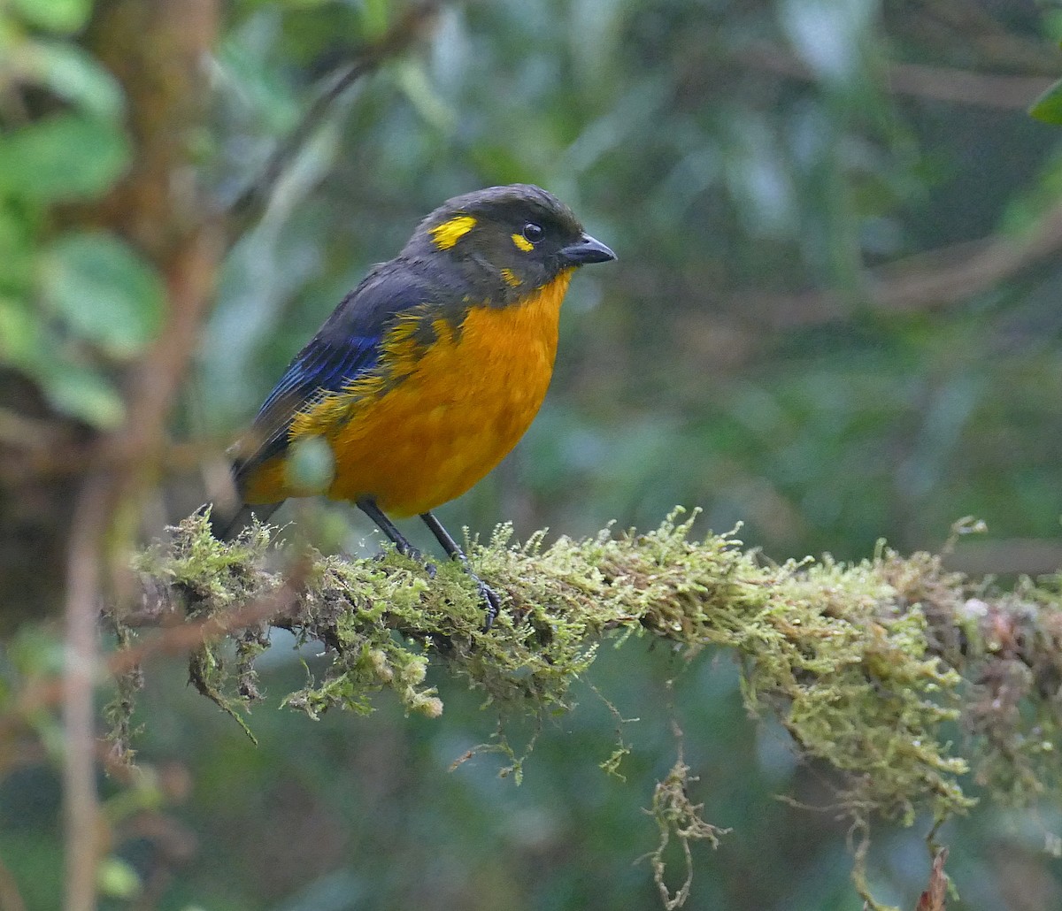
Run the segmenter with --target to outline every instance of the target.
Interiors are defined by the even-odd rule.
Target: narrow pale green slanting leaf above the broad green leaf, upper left
[[[81,48],[61,41],[25,41],[11,55],[14,75],[106,120],[125,109],[118,81]]]

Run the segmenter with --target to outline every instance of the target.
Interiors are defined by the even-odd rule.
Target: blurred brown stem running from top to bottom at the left
[[[211,0],[109,4],[100,7],[93,21],[101,59],[113,67],[126,90],[131,121],[138,127],[133,132],[140,164],[100,204],[100,212],[140,244],[162,272],[168,295],[167,325],[130,372],[126,423],[98,442],[99,452],[122,452],[135,467],[119,471],[89,460],[71,527],[67,659],[61,687],[66,737],[66,911],[95,911],[97,907],[104,821],[96,791],[93,689],[106,544],[116,513],[149,477],[151,453],[162,440],[170,402],[210,299],[221,250],[218,231],[204,220],[205,207],[195,204],[194,196],[178,200],[173,192],[173,175],[187,167],[186,131],[198,125],[202,114],[199,61],[211,46],[216,25]],[[116,51],[127,48],[134,36],[134,52]],[[166,52],[160,54],[157,48]]]

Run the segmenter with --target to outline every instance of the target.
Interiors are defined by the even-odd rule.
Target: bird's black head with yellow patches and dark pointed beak
[[[529,184],[448,200],[421,222],[402,254],[444,259],[498,304],[542,288],[567,270],[616,258],[556,196]]]

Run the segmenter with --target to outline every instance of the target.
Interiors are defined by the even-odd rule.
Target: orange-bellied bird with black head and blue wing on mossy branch
[[[215,534],[230,539],[289,497],[324,495],[421,558],[392,521],[419,516],[472,577],[490,630],[501,601],[432,510],[524,435],[549,386],[573,272],[614,259],[541,187],[447,200],[292,359],[234,447],[241,505],[212,519]]]

